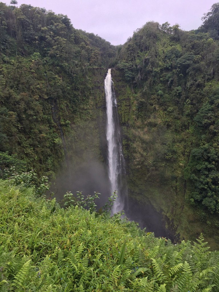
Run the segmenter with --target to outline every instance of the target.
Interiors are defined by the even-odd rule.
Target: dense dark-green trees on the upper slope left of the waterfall
[[[54,171],[63,135],[90,114],[94,71],[108,66],[115,47],[74,29],[66,15],[2,2],[0,11],[0,151],[39,174]]]

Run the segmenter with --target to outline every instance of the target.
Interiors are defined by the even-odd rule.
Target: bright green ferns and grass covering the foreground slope
[[[219,253],[0,180],[0,292],[219,291]]]

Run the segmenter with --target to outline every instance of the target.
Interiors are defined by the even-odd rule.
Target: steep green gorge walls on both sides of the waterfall
[[[167,237],[203,232],[217,248],[217,7],[196,30],[151,21],[112,46],[66,15],[1,3],[1,176],[12,166],[55,173],[57,199],[84,177],[83,194],[98,190],[102,206],[113,189],[103,86],[111,67],[130,202],[151,204]]]

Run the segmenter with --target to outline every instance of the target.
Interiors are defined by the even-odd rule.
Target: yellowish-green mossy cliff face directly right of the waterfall
[[[217,228],[209,230],[208,224],[201,220],[199,211],[192,208],[187,199],[191,187],[184,178],[185,164],[182,165],[182,157],[187,163],[189,161],[185,154],[186,146],[180,145],[177,137],[173,140],[175,133],[171,133],[171,130],[159,126],[162,123],[161,110],[158,113],[155,103],[153,117],[139,118],[136,106],[139,93],[136,94],[128,86],[120,69],[112,69],[112,79],[123,130],[129,197],[141,204],[152,204],[158,213],[162,213],[168,235],[173,240],[192,239],[204,232],[206,240],[213,248],[217,248]],[[160,153],[163,148],[171,143],[175,144],[175,155],[172,155],[172,159],[171,155],[162,157]],[[157,218],[155,215],[154,220]]]

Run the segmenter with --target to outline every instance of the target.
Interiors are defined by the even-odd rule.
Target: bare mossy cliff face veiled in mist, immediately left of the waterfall
[[[66,119],[74,120],[65,133],[66,155],[56,170],[55,186],[52,189],[58,199],[67,190],[84,195],[94,191],[101,193],[98,208],[110,197],[107,174],[106,102],[104,79],[107,69],[94,69],[87,78],[90,84],[88,104],[81,106],[81,115],[75,120],[67,111]],[[84,112],[84,114],[83,114]],[[63,114],[62,112],[60,114]],[[58,189],[58,190],[57,190]]]

